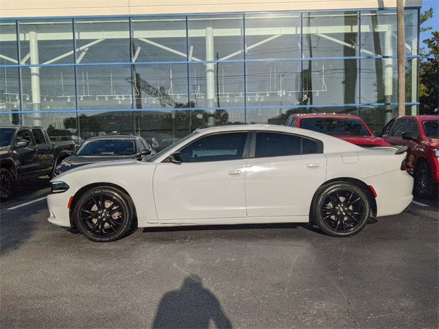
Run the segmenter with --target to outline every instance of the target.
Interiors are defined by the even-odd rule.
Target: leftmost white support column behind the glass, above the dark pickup
[[[30,49],[30,64],[39,64],[38,58],[38,34],[36,32],[29,32],[29,49]],[[40,96],[40,68],[32,66],[30,68],[30,84],[32,90],[32,110],[41,110],[41,96]],[[42,125],[39,113],[34,113],[33,125]]]

